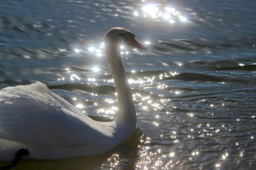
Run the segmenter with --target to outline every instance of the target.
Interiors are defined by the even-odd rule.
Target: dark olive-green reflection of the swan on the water
[[[110,121],[108,118],[92,117],[101,122]],[[65,160],[21,160],[18,169],[119,169],[125,161],[126,169],[136,169],[138,160],[149,159],[147,139],[140,129],[124,143],[108,153],[95,157],[77,157]],[[141,155],[144,153],[144,155]],[[129,157],[127,157],[129,155]],[[146,157],[146,158],[145,158]],[[122,161],[122,162],[121,162]],[[148,161],[151,162],[152,160]],[[145,162],[147,163],[147,162]],[[147,166],[147,164],[146,164]]]

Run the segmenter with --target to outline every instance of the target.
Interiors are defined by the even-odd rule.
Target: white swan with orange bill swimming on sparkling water
[[[144,48],[134,37],[122,27],[104,36],[118,99],[113,122],[92,120],[41,82],[0,90],[0,160],[13,160],[20,148],[29,150],[30,159],[100,155],[129,138],[136,111],[118,49],[121,42]]]

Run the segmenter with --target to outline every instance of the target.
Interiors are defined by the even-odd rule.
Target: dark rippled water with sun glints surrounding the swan
[[[255,8],[254,0],[0,0],[0,88],[42,81],[98,120],[116,111],[104,32],[125,27],[149,48],[122,49],[138,112],[128,141],[99,157],[22,160],[17,169],[256,167]]]

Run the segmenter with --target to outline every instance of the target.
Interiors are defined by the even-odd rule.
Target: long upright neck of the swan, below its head
[[[131,131],[132,133],[136,128],[136,111],[119,46],[116,44],[107,45],[106,53],[111,67],[118,100],[116,123],[118,126],[124,127],[127,131]]]

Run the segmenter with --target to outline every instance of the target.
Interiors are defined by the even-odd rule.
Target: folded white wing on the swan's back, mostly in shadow
[[[0,90],[0,139],[38,148],[79,146],[99,139],[91,118],[43,83]],[[78,113],[74,113],[74,111]]]

